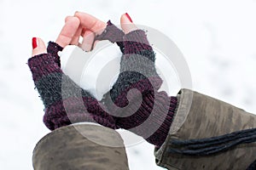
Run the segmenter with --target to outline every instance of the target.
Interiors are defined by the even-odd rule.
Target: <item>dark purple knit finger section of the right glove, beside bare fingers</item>
[[[96,40],[108,40],[109,42],[116,42],[119,46],[122,53],[124,53],[125,48],[123,44],[123,37],[125,36],[125,33],[121,31],[117,26],[114,26],[110,20],[107,22],[107,27],[102,32],[101,35],[98,35],[95,37]]]

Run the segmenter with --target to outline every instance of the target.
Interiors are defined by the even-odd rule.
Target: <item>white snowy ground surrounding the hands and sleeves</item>
[[[127,12],[165,33],[187,60],[196,91],[256,112],[255,0],[0,0],[0,169],[32,169],[32,150],[49,133],[26,65],[32,37],[55,40],[77,10],[117,24]],[[162,169],[153,150],[146,142],[127,148],[131,170]]]

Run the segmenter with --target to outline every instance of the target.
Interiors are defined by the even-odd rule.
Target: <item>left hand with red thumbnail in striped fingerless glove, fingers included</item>
[[[44,103],[44,124],[50,130],[74,122],[97,122],[105,127],[116,128],[113,116],[108,114],[104,105],[89,92],[79,88],[61,71],[58,51],[69,44],[78,45],[80,36],[90,34],[88,32],[96,34],[96,28],[106,26],[99,24],[103,22],[89,14],[83,14],[83,16],[84,22],[87,23],[83,26],[80,25],[78,17],[68,16],[60,35],[55,42],[49,42],[47,48],[40,38],[32,38],[33,57],[28,59],[27,64]],[[98,24],[94,26],[91,23]],[[86,41],[83,40],[83,42]]]

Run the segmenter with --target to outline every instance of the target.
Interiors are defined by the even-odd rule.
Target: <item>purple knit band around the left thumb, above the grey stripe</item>
[[[55,63],[55,57],[52,54],[38,54],[27,62],[32,71],[32,78],[37,82],[40,78],[50,73],[61,72],[59,66]]]

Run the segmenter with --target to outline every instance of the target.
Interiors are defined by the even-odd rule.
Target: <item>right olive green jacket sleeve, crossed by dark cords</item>
[[[256,160],[256,143],[239,144],[208,156],[172,153],[174,140],[206,139],[256,127],[256,115],[233,105],[182,89],[177,95],[178,106],[166,141],[154,150],[157,165],[167,169],[245,170]]]

